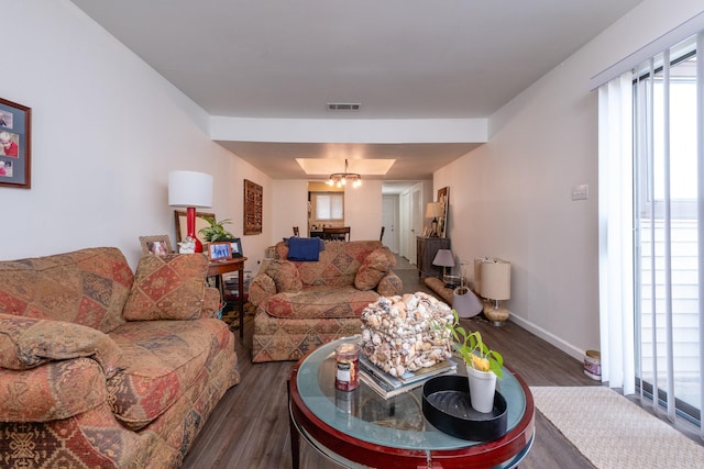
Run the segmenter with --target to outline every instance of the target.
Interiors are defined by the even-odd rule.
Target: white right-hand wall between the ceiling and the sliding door
[[[513,319],[576,358],[600,348],[597,93],[588,79],[702,10],[645,1],[490,120],[490,142],[435,175],[463,260],[512,261]],[[587,183],[590,198],[572,201]],[[473,272],[470,269],[470,275]]]

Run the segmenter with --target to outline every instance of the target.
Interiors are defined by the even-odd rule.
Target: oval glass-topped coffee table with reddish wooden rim
[[[535,406],[526,382],[508,368],[498,381],[507,402],[507,433],[492,442],[444,434],[422,413],[422,387],[385,400],[364,382],[354,391],[334,387],[336,340],[298,361],[289,380],[294,468],[513,468],[534,440]],[[458,367],[462,373],[461,366]],[[301,459],[302,458],[302,459]]]

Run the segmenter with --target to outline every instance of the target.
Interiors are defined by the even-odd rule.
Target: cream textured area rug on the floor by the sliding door
[[[703,446],[612,389],[530,391],[536,409],[597,468],[704,467]]]

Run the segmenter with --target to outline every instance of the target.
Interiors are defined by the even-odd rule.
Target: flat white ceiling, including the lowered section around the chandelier
[[[72,1],[211,115],[374,120],[488,118],[641,0]],[[393,155],[385,180],[477,145],[219,143],[273,178]]]

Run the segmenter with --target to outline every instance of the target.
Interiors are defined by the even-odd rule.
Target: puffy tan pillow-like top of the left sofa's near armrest
[[[64,321],[0,314],[0,367],[23,370],[50,360],[91,357],[112,377],[122,353],[100,331]]]

